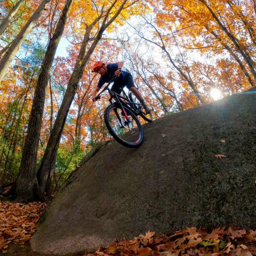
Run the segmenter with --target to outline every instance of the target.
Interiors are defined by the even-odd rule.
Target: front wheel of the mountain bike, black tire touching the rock
[[[115,103],[109,105],[104,120],[109,133],[125,147],[137,148],[144,139],[144,131],[138,118],[124,107],[125,113]]]

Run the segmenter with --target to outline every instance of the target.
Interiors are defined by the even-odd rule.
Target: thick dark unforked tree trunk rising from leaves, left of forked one
[[[58,21],[57,27],[49,41],[41,70],[37,79],[34,99],[28,123],[28,133],[23,147],[19,175],[17,179],[17,201],[30,201],[34,197],[36,180],[37,150],[44,111],[45,89],[60,38],[66,24],[68,11],[73,0],[68,0]]]

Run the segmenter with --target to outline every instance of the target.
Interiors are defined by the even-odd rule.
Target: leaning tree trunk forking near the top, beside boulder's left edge
[[[86,32],[84,35],[84,39],[82,42],[82,46],[81,49],[79,51],[78,54],[78,58],[75,64],[75,68],[74,71],[69,79],[68,82],[68,86],[67,86],[67,90],[66,93],[64,95],[64,98],[61,102],[61,106],[60,109],[58,111],[57,114],[57,118],[55,119],[53,128],[52,128],[52,132],[49,138],[49,141],[47,143],[46,149],[45,149],[45,153],[42,159],[42,163],[39,167],[38,173],[37,173],[37,179],[38,179],[38,183],[39,183],[39,191],[38,191],[38,197],[44,199],[45,198],[45,191],[47,191],[47,187],[46,187],[46,183],[47,183],[47,178],[49,177],[49,175],[53,172],[53,164],[55,163],[55,159],[57,156],[57,150],[58,150],[58,146],[59,146],[59,142],[60,142],[60,138],[61,138],[61,134],[63,131],[63,127],[65,125],[66,119],[67,119],[67,115],[69,112],[69,108],[71,106],[71,103],[75,97],[75,93],[77,90],[77,86],[79,81],[81,80],[81,77],[84,73],[84,69],[85,66],[87,64],[87,62],[89,61],[91,54],[93,53],[95,47],[97,46],[97,44],[99,43],[103,32],[105,31],[105,29],[117,18],[117,16],[119,15],[119,13],[123,10],[123,7],[125,5],[125,3],[127,2],[127,0],[124,0],[123,3],[121,4],[121,6],[119,7],[118,10],[116,10],[116,12],[111,13],[112,17],[108,20],[109,18],[109,14],[111,12],[112,9],[115,9],[117,0],[115,0],[111,6],[109,7],[109,9],[107,10],[103,21],[102,21],[102,25],[97,33],[97,35],[94,38],[94,41],[92,42],[91,46],[89,47],[89,50],[87,52],[86,51],[86,46],[87,43],[90,40],[90,32],[91,29],[93,28],[93,26],[95,25],[95,23],[97,23],[99,21],[99,19],[102,17],[102,11],[101,14],[99,15],[99,18],[95,19],[90,26],[87,26],[86,28]],[[107,21],[108,20],[108,21]]]

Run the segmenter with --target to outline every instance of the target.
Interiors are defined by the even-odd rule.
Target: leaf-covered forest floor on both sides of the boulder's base
[[[6,193],[6,190],[4,191]],[[46,203],[20,204],[0,196],[0,255],[49,256],[33,252],[29,239],[35,233]],[[93,254],[84,252],[66,256],[252,256],[256,255],[256,231],[235,227],[213,230],[195,227],[170,234],[156,235],[148,231],[133,239],[116,240],[107,247],[100,247]]]

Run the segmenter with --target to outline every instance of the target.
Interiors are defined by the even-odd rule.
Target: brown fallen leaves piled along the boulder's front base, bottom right
[[[95,255],[253,255],[256,253],[256,231],[238,230],[235,227],[216,228],[212,231],[195,227],[167,235],[148,231],[131,240],[116,240],[108,247],[101,247]]]

